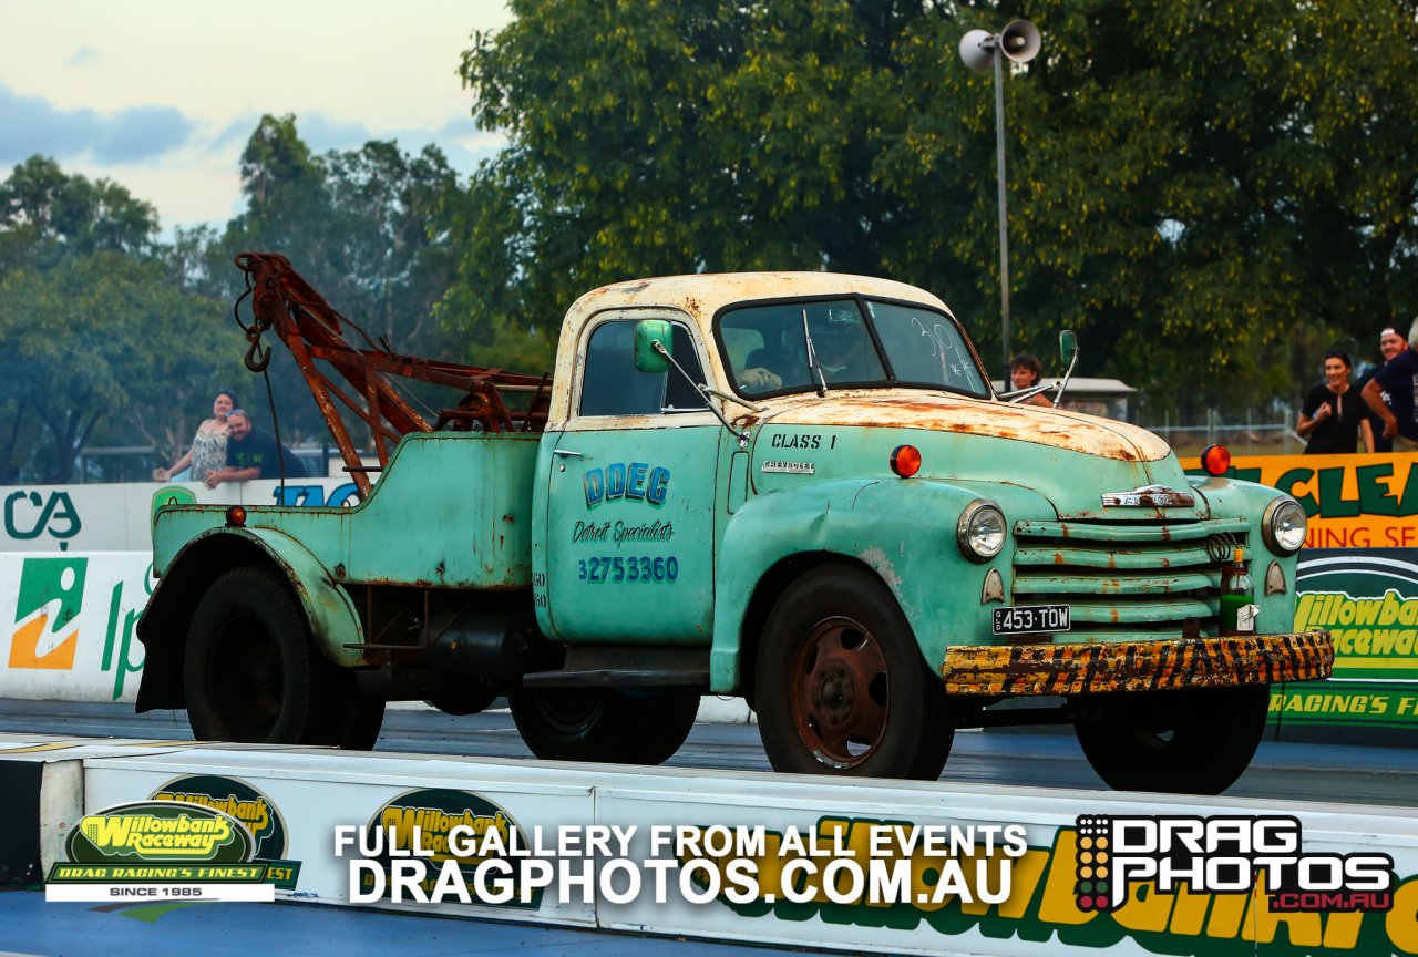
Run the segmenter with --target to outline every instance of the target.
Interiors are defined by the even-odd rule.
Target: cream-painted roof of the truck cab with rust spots
[[[735,302],[832,293],[906,299],[949,312],[946,303],[929,292],[893,279],[841,272],[705,272],[614,282],[593,289],[576,301],[567,319],[624,306],[674,306],[695,318],[709,319]]]

